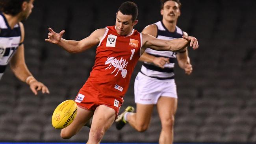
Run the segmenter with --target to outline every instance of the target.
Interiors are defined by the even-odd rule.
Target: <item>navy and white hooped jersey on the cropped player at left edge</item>
[[[19,24],[10,28],[6,17],[0,12],[0,79],[11,57],[19,47],[21,32]]]

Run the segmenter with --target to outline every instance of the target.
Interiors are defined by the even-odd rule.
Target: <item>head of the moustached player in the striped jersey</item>
[[[168,22],[176,22],[180,16],[180,8],[178,3],[172,0],[165,2],[163,9],[161,9],[161,15],[163,15],[163,19],[167,20]]]

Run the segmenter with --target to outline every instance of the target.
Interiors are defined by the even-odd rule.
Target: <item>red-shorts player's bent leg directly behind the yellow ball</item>
[[[71,138],[72,136],[76,135],[78,131],[87,123],[87,121],[93,116],[93,111],[89,111],[87,109],[82,109],[81,107],[77,107],[77,114],[73,122],[61,129],[61,137],[64,139]]]

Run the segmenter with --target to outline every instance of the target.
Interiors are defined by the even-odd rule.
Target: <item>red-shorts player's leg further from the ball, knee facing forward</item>
[[[93,114],[87,144],[99,144],[104,133],[113,124],[114,120],[115,110],[106,105],[99,105]]]

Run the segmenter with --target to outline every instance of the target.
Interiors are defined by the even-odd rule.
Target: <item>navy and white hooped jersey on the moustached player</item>
[[[165,28],[162,21],[156,22],[154,24],[156,24],[158,28],[156,38],[164,39],[164,40],[182,38],[183,31],[180,28],[178,28],[178,26],[176,26],[176,29],[174,32],[170,32],[169,30],[167,30],[167,28]],[[174,63],[176,61],[176,52],[157,51],[157,50],[152,50],[150,48],[147,48],[145,52],[147,52],[147,54],[154,55],[156,57],[167,57],[169,58],[170,63],[165,64],[164,68],[160,68],[151,63],[144,62],[141,67],[141,73],[151,78],[157,78],[157,79],[173,79],[174,78],[173,68],[174,68]]]

